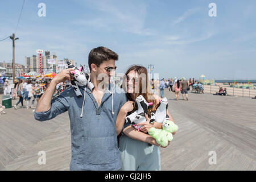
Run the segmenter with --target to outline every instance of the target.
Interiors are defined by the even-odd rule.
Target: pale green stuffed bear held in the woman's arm
[[[163,122],[163,129],[160,130],[151,127],[150,130],[148,130],[148,134],[150,134],[150,136],[153,137],[160,146],[166,147],[168,141],[173,139],[172,133],[177,131],[177,129],[178,126],[175,125],[174,122],[166,120]]]

